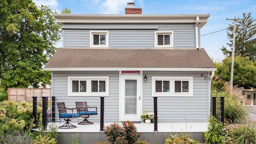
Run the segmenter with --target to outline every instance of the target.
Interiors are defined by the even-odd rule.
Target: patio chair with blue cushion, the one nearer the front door
[[[88,108],[92,109],[95,108],[95,111],[89,111]],[[96,106],[87,106],[86,101],[85,102],[76,102],[76,111],[84,120],[82,122],[79,122],[78,124],[93,124],[93,122],[88,121],[88,118],[90,115],[97,115],[97,107]]]

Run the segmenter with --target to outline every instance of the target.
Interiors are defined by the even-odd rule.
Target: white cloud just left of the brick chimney
[[[133,2],[133,0],[129,0]],[[102,14],[120,14],[127,6],[127,0],[105,0],[100,5]]]

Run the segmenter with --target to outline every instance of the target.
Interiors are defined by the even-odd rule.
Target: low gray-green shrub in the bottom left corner
[[[32,138],[25,132],[4,133],[1,144],[33,144]]]

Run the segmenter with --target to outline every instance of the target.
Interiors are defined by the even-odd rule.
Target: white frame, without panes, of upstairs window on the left
[[[106,34],[106,44],[105,45],[94,45],[93,44],[93,35],[94,34]],[[108,31],[102,31],[102,30],[92,30],[90,31],[90,47],[91,48],[108,48]]]

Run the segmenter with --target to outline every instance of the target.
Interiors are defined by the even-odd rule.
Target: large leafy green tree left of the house
[[[42,66],[56,51],[61,38],[48,6],[32,0],[0,0],[0,86],[37,88],[50,84],[51,73]]]

